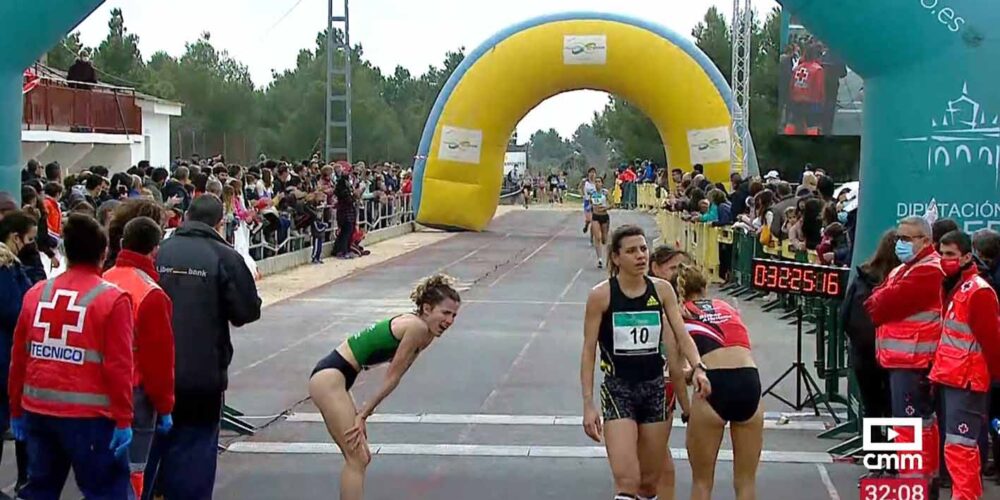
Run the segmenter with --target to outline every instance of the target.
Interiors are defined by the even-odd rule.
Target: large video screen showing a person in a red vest
[[[864,81],[795,17],[783,18],[779,133],[860,136]]]

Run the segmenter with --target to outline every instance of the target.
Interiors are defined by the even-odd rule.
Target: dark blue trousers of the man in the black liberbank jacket
[[[219,457],[219,424],[174,424],[153,438],[146,462],[143,500],[154,492],[166,500],[210,500]]]

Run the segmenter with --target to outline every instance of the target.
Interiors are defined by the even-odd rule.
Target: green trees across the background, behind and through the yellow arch
[[[848,178],[856,172],[856,138],[777,135],[780,31],[778,8],[753,27],[750,129],[761,169],[784,170],[792,176],[812,162],[836,177]],[[729,80],[732,50],[722,13],[708,9],[692,35]],[[323,150],[326,36],[325,31],[317,34],[315,46],[299,52],[295,67],[274,73],[266,88],[256,88],[246,66],[217,50],[209,33],[187,43],[180,57],[156,52],[144,60],[138,35],[128,32],[121,10],[114,9],[108,35],[93,50],[93,61],[104,83],[134,86],[184,104],[183,116],[171,120],[175,155],[225,153],[231,161],[248,162],[266,153],[296,159]],[[340,31],[332,36],[343,40]],[[78,33],[67,36],[49,51],[49,65],[68,69],[81,47]],[[350,50],[354,159],[411,165],[434,101],[464,60],[465,48],[446,53],[440,66],[430,66],[419,76],[403,67],[383,75],[364,59],[360,45]],[[344,54],[333,54],[333,62],[343,67]],[[343,90],[342,80],[335,79],[334,85]],[[333,109],[338,108],[342,109],[334,103]],[[344,118],[343,111],[335,111],[335,120]],[[342,141],[336,136],[334,140]],[[582,175],[588,166],[603,169],[635,158],[666,165],[655,125],[618,97],[609,99],[571,138],[551,129],[535,132],[529,150],[532,170],[563,169],[571,175]]]

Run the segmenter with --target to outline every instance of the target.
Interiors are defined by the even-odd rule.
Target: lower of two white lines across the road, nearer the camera
[[[523,458],[607,458],[603,446],[535,446],[535,445],[491,445],[491,444],[369,444],[372,455],[409,456],[453,456],[453,457],[523,457]],[[227,451],[233,453],[260,454],[311,454],[339,455],[340,449],[334,443],[278,443],[262,441],[240,441],[230,444]],[[687,460],[687,450],[671,448],[670,454],[677,460]],[[720,450],[719,461],[731,462],[732,450]],[[761,462],[779,464],[828,464],[833,463],[825,452],[763,451]]]

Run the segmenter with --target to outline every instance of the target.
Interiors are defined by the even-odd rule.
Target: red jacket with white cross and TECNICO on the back
[[[132,303],[72,266],[24,296],[11,349],[10,414],[105,417],[132,424]]]

